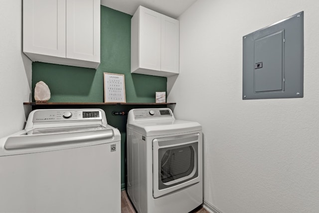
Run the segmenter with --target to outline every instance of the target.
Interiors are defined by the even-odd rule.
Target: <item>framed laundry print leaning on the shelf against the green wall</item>
[[[126,103],[123,74],[104,72],[104,102]]]

